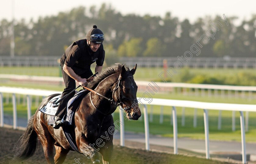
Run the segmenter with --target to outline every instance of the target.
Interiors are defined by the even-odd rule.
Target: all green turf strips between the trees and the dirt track
[[[32,71],[33,69],[33,71]],[[59,75],[59,67],[52,67],[52,68],[41,68],[41,67],[34,67],[34,68],[26,68],[26,67],[4,67],[0,69],[0,73],[10,73],[10,74],[28,74],[28,75],[48,75],[48,76],[58,76]],[[29,73],[26,73],[29,72]],[[180,75],[186,72],[186,69],[180,70],[174,76],[176,82],[179,82]],[[191,72],[194,74],[200,74],[207,72],[208,74],[218,74],[221,72],[222,75],[234,75],[236,76],[237,73],[244,71],[242,69],[190,69]],[[255,74],[254,69],[246,69],[251,74]],[[40,72],[38,74],[38,72]],[[43,73],[46,72],[46,73]],[[51,72],[48,73],[47,72]],[[55,72],[55,73],[54,73]],[[158,81],[159,77],[158,74],[162,72],[161,68],[138,68],[134,78],[136,80],[154,80]],[[158,79],[158,80],[157,80]],[[161,80],[161,79],[160,79]],[[26,87],[26,88],[37,88],[37,89],[47,89],[47,90],[56,90],[62,91],[64,86],[59,85],[41,85],[41,84],[27,84],[27,83],[15,83],[15,82],[8,82],[0,81],[0,86],[13,86],[13,87]],[[143,92],[138,92],[137,97],[140,97]],[[220,93],[219,93],[220,94]],[[205,96],[195,96],[194,91],[192,91],[189,95],[184,95],[182,93],[156,93],[152,98],[161,98],[161,99],[177,99],[177,100],[191,100],[191,101],[201,101],[201,102],[219,102],[219,103],[238,103],[238,104],[255,104],[253,100],[249,99],[242,99],[242,98],[228,98],[228,97],[215,97],[212,94],[212,97],[208,97],[207,91],[205,91]],[[241,95],[241,93],[239,93]],[[4,94],[4,112],[5,114],[12,115],[12,105],[11,99],[9,100],[9,105],[6,104],[6,94]],[[11,98],[11,95],[9,95]],[[35,103],[36,97],[33,97],[32,103],[32,113],[35,112],[37,109],[37,103]],[[39,97],[41,100],[41,97]],[[170,125],[170,117],[171,117],[171,107],[164,107],[164,121],[163,124],[159,123],[160,118],[160,106],[154,106],[154,115],[153,115],[153,122],[149,122],[149,132],[151,134],[160,134],[162,136],[172,137],[173,129]],[[23,105],[23,95],[20,96],[20,104],[17,103],[18,115],[20,117],[26,118],[27,117],[27,107]],[[150,109],[151,106],[148,105],[148,117],[150,117]],[[203,122],[203,110],[198,109],[197,111],[197,127],[193,127],[193,116],[194,116],[194,109],[186,108],[186,122],[185,126],[181,126],[181,108],[177,109],[177,118],[178,118],[178,137],[190,137],[190,138],[200,138],[204,139],[204,122]],[[142,110],[142,109],[141,109]],[[114,119],[119,119],[119,111],[116,110],[114,114]],[[219,111],[210,110],[209,111],[209,137],[210,139],[217,139],[217,140],[236,140],[240,141],[241,134],[240,134],[240,119],[239,119],[239,112],[236,112],[236,131],[232,132],[231,127],[231,112],[229,111],[222,111],[222,129],[217,129],[217,121],[218,121],[218,113]],[[255,135],[256,135],[256,112],[250,112],[249,115],[249,131],[246,132],[246,140],[255,142]],[[142,120],[139,121],[130,121],[125,120],[125,130],[133,131],[133,132],[144,132],[144,122]]]

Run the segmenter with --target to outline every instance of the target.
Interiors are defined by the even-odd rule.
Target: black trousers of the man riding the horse
[[[68,74],[66,74],[66,72],[63,70],[63,65],[64,65],[65,61],[63,59],[60,59],[60,66],[61,66],[61,71],[62,71],[62,76],[63,76],[63,80],[65,83],[66,88],[64,89],[64,91],[62,92],[62,97],[64,97],[65,95],[69,94],[71,91],[73,91],[76,88],[76,81],[74,79],[72,79]],[[88,79],[89,77],[91,77],[93,75],[93,73],[91,72],[91,69],[87,72],[85,72],[82,75],[79,75],[81,78],[85,78]],[[64,115],[66,114],[66,105],[69,99],[71,99],[73,96],[75,95],[75,91],[73,93],[71,93],[70,95],[68,95],[66,98],[64,98],[58,106],[58,110],[56,112],[56,116],[60,116],[61,118],[64,117]]]

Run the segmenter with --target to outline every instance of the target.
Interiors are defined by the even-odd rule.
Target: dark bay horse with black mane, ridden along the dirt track
[[[128,119],[138,120],[141,116],[136,98],[137,85],[133,79],[136,68],[137,64],[131,70],[117,64],[116,67],[105,69],[87,84],[88,88],[103,97],[92,92],[85,95],[76,109],[75,125],[70,128],[79,152],[89,156],[93,163],[99,163],[98,152],[102,155],[103,164],[111,163],[113,134],[116,132],[111,114],[118,105],[125,110]],[[63,163],[69,150],[72,150],[62,128],[53,129],[48,125],[49,115],[39,111],[54,96],[56,94],[46,97],[31,117],[26,132],[20,138],[21,146],[17,157],[26,159],[32,156],[36,150],[37,138],[41,141],[45,158],[50,164]]]

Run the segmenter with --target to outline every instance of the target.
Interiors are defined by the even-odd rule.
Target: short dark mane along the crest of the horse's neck
[[[101,73],[97,74],[94,77],[93,81],[87,83],[86,87],[88,87],[90,89],[95,89],[98,86],[99,82],[101,82],[106,77],[108,77],[110,75],[113,75],[115,73],[121,73],[122,66],[123,66],[122,64],[116,63],[115,67],[108,67],[104,71],[101,71]],[[125,69],[126,69],[126,75],[125,76],[130,75],[129,67],[127,67],[126,65],[124,65],[124,66],[125,66]]]

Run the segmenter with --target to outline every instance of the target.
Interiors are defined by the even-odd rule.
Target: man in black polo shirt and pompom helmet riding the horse
[[[96,61],[95,72],[101,72],[102,65],[105,58],[105,50],[103,49],[102,42],[104,41],[103,32],[93,25],[85,39],[78,40],[70,45],[60,59],[60,66],[62,76],[66,88],[62,92],[64,97],[76,88],[76,82],[85,86],[88,78],[93,75],[91,71],[91,64]],[[58,110],[55,114],[54,129],[59,129],[64,125],[62,118],[66,114],[66,103],[73,97],[75,92],[66,96],[59,103]]]

